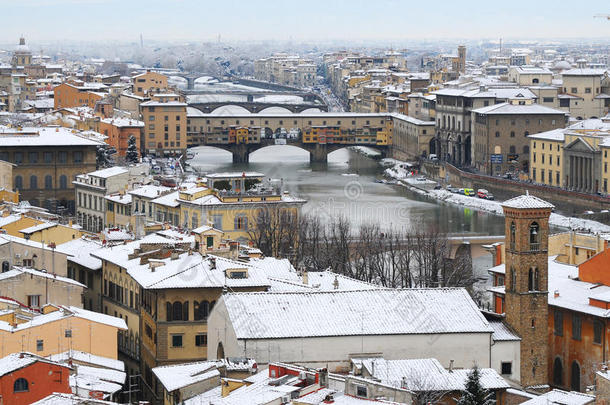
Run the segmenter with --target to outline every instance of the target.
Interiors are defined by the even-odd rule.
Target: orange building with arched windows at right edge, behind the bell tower
[[[585,391],[610,358],[610,249],[579,266],[548,259],[548,375],[556,388]],[[503,313],[504,264],[493,275],[494,310]]]

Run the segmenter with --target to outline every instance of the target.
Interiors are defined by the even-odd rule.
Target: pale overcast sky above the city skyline
[[[610,38],[608,0],[0,0],[2,40]]]

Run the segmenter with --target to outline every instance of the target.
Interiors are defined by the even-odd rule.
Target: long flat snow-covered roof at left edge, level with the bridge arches
[[[102,143],[83,136],[70,128],[34,127],[7,128],[0,126],[2,146],[98,146]]]

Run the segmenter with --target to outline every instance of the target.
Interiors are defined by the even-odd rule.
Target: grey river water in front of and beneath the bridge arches
[[[309,153],[293,146],[270,146],[250,155],[249,164],[233,164],[229,152],[192,149],[191,165],[204,173],[257,171],[282,179],[284,190],[307,200],[304,212],[322,218],[344,215],[357,227],[377,223],[389,229],[426,227],[449,233],[504,234],[504,219],[470,208],[440,203],[382,179],[379,163],[351,149],[328,155],[327,165],[309,163]]]

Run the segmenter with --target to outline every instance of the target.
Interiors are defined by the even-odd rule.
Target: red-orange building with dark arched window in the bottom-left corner
[[[3,404],[27,405],[54,392],[71,393],[71,368],[32,353],[13,353],[0,359]]]

